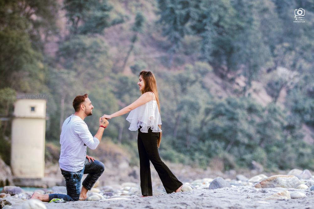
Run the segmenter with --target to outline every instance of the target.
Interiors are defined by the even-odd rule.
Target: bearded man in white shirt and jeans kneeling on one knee
[[[75,97],[73,107],[75,113],[64,121],[60,135],[59,165],[65,178],[67,195],[41,195],[34,192],[31,198],[46,202],[51,201],[53,198],[63,198],[65,201],[85,200],[87,191],[93,187],[104,172],[104,164],[86,155],[86,147],[96,149],[109,122],[105,118],[99,118],[99,129],[93,137],[84,122],[87,116],[92,115],[94,108],[88,95]],[[81,189],[83,174],[88,175],[83,181]]]

